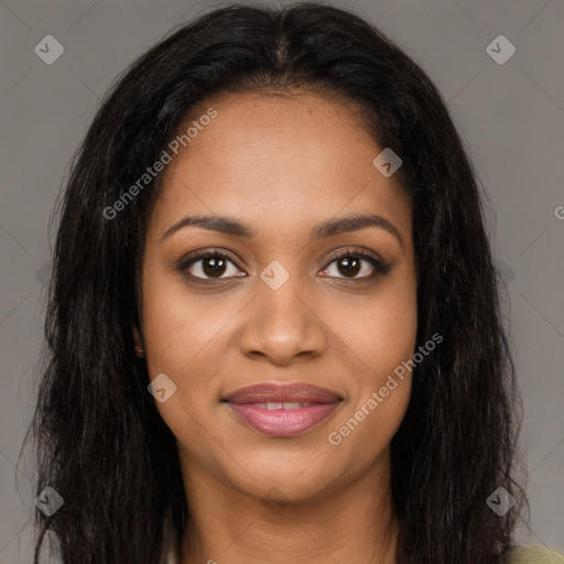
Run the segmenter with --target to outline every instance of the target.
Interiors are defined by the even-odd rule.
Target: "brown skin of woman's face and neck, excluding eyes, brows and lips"
[[[372,165],[383,148],[350,102],[305,91],[231,94],[196,115],[209,107],[217,117],[164,171],[143,256],[142,327],[134,328],[151,379],[164,372],[177,387],[156,406],[176,436],[193,522],[182,564],[262,564],[264,555],[273,564],[392,564],[390,441],[410,373],[339,445],[327,437],[414,352],[408,198]],[[163,240],[197,214],[236,218],[257,236],[189,226]],[[314,225],[355,214],[384,217],[401,241],[373,226],[310,237]],[[175,270],[199,249],[224,251],[232,263],[216,279],[206,259]],[[370,278],[375,269],[362,259],[347,276],[333,258],[340,250],[371,252],[390,271]],[[273,260],[290,274],[278,290],[260,278]],[[220,401],[259,382],[313,383],[344,400],[302,435],[271,437]]]

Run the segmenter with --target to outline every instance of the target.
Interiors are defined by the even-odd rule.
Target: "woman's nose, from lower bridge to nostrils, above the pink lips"
[[[315,312],[314,302],[307,300],[303,288],[300,290],[292,278],[278,290],[260,282],[240,336],[243,355],[288,366],[324,352],[327,327]]]

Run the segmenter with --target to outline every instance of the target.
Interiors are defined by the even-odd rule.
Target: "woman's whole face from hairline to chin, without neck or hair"
[[[150,378],[165,375],[156,406],[184,476],[312,499],[389,464],[411,390],[409,371],[394,375],[416,334],[410,205],[338,101],[229,95],[200,113],[210,107],[148,226],[141,330]],[[378,217],[338,223],[352,216]],[[262,383],[299,386],[232,395]]]

